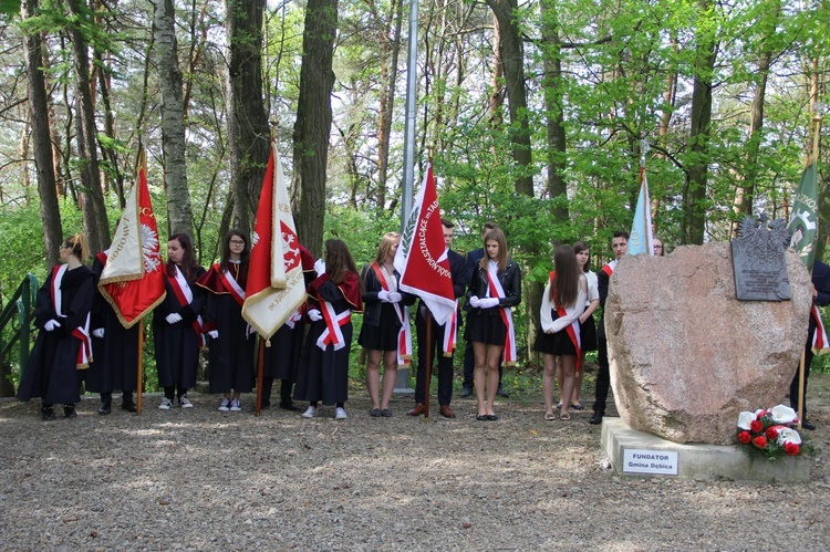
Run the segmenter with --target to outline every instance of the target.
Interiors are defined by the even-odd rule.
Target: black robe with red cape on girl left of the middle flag
[[[241,289],[246,278],[241,267],[230,263],[229,270]],[[204,332],[216,330],[219,336],[209,337],[209,392],[250,393],[253,389],[253,346],[256,334],[248,335],[248,322],[242,317],[242,305],[225,289],[219,264],[214,264],[197,282],[207,291]]]

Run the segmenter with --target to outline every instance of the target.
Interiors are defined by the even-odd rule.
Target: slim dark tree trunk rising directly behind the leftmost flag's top
[[[81,181],[84,229],[91,251],[103,251],[110,247],[110,222],[106,218],[106,204],[101,188],[98,170],[97,131],[95,129],[95,107],[92,104],[92,82],[90,80],[89,43],[82,27],[92,21],[82,13],[79,0],[68,0],[70,13],[75,18],[71,24],[72,50],[74,53],[75,94],[77,101],[77,153],[81,158]]]

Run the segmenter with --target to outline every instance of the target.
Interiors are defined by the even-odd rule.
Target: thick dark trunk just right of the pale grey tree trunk
[[[262,101],[262,15],[264,0],[227,0],[228,153],[234,194],[231,225],[250,232],[270,154],[268,114]]]

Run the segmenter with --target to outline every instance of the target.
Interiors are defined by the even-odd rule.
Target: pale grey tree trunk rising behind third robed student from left
[[[162,96],[162,152],[164,185],[167,192],[167,231],[194,235],[190,190],[185,163],[185,115],[181,100],[181,72],[175,33],[173,0],[155,4],[155,43],[158,90]]]

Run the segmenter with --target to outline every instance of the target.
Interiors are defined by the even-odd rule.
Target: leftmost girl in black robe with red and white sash
[[[34,325],[40,329],[18,388],[18,398],[41,398],[43,419],[54,419],[53,405],[63,404],[68,418],[77,416],[81,376],[92,361],[90,311],[95,293],[83,235],[68,238],[60,250],[62,264],[54,267],[38,291]]]

